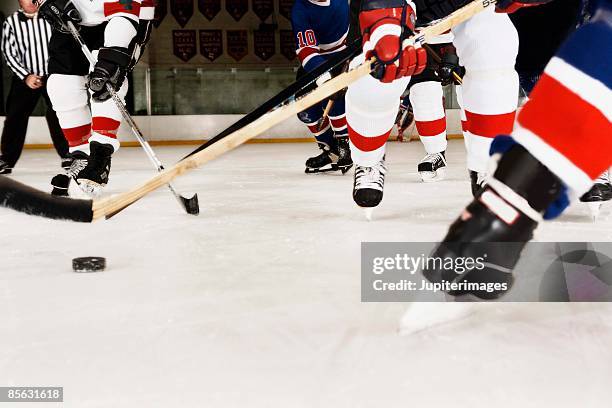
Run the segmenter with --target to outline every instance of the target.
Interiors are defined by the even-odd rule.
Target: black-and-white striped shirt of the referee
[[[47,76],[51,26],[42,18],[28,18],[22,11],[7,17],[2,26],[2,54],[9,68],[24,80],[28,75]]]

